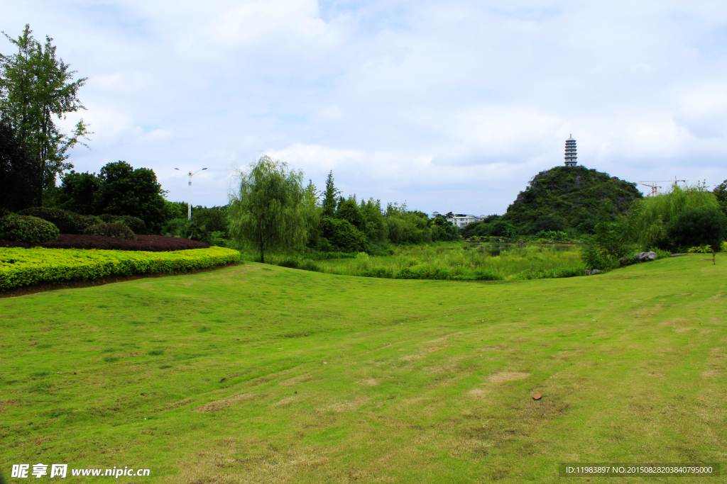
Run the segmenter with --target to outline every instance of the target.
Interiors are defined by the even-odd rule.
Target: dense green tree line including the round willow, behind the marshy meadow
[[[406,204],[343,197],[333,173],[322,192],[302,172],[263,156],[239,173],[238,189],[228,208],[230,235],[237,242],[265,253],[308,247],[324,252],[384,250],[387,243],[419,244],[459,239],[457,227],[443,218],[430,219]]]

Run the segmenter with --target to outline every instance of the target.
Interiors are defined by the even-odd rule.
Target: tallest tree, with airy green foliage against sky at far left
[[[23,148],[43,176],[38,178],[34,196],[42,204],[43,191],[55,186],[55,177],[72,168],[67,163],[68,149],[84,144],[92,134],[84,120],[76,123],[71,134],[64,134],[54,118],[65,119],[69,112],[86,109],[79,101],[78,91],[87,78],[72,81],[77,71],[56,55],[52,38],[41,44],[25,25],[17,38],[4,36],[17,47],[17,53],[0,54],[0,114],[17,130]]]

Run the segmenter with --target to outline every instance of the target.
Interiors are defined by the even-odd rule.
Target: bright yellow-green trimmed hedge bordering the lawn
[[[174,252],[0,248],[0,290],[87,281],[103,276],[174,274],[224,266],[239,260],[237,250],[222,247]]]

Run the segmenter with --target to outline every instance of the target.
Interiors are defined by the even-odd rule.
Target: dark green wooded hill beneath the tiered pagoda
[[[585,166],[556,166],[534,176],[499,218],[519,233],[574,229],[592,233],[599,218],[626,215],[642,198],[636,184]]]

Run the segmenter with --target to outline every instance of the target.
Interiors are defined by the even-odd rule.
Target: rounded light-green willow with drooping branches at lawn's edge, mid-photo
[[[303,172],[268,156],[238,173],[239,185],[230,194],[230,237],[244,247],[265,253],[302,247],[316,213],[307,202]]]

